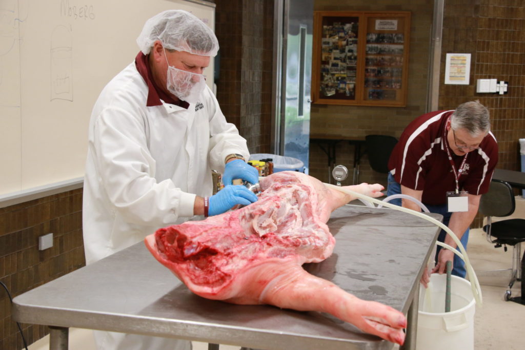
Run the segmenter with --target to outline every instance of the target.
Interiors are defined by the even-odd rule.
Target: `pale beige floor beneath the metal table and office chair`
[[[511,217],[525,218],[525,199],[516,197],[517,209]],[[510,248],[510,247],[509,247]],[[494,248],[485,239],[481,229],[470,232],[468,256],[474,266],[481,284],[483,305],[476,305],[474,319],[474,347],[476,350],[523,349],[525,344],[525,305],[506,302],[503,299],[507,289],[507,279],[500,278],[503,273],[486,277],[480,271],[507,269],[511,266],[512,249],[507,252],[503,248]],[[520,295],[520,283],[512,288],[512,295]],[[45,350],[49,348],[49,336],[44,337],[29,350]],[[69,333],[69,348],[75,350],[95,350],[92,332],[73,328]],[[206,350],[206,343],[193,343],[194,350]],[[238,350],[238,346],[220,345],[220,350]],[[111,350],[111,349],[107,349]],[[418,349],[419,350],[419,349]],[[424,349],[422,349],[424,350]]]

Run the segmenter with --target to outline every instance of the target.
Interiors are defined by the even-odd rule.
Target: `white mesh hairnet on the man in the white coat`
[[[144,55],[150,53],[156,40],[162,41],[166,49],[195,55],[215,56],[219,50],[213,30],[184,10],[167,10],[146,21],[137,38],[137,44]]]

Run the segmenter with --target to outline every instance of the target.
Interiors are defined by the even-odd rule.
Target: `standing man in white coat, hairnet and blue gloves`
[[[218,51],[215,34],[182,10],[150,18],[141,52],[102,90],[89,123],[83,192],[86,262],[100,260],[156,229],[224,213],[257,197],[246,140],[227,123],[204,68]],[[212,196],[212,172],[224,189]],[[187,341],[95,332],[100,349],[190,349]]]

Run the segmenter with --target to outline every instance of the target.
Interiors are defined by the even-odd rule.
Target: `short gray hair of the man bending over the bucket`
[[[476,101],[458,105],[450,118],[453,130],[467,129],[471,136],[485,135],[490,131],[489,110]]]

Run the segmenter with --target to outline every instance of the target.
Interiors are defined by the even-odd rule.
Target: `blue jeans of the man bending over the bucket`
[[[401,185],[397,183],[394,179],[394,176],[392,176],[391,173],[388,173],[388,187],[386,195],[395,195],[395,194],[401,194]],[[392,199],[390,203],[401,206],[401,198]],[[425,203],[423,203],[425,204]],[[425,206],[428,208],[430,213],[436,213],[443,215],[443,224],[448,226],[448,223],[450,221],[450,216],[452,213],[450,211],[447,211],[447,205],[428,205],[425,204]],[[463,247],[465,247],[465,250],[467,250],[467,242],[468,242],[468,233],[469,228],[465,231],[463,236],[461,237],[460,241],[461,244],[463,244]],[[445,242],[445,236],[447,235],[447,232],[445,230],[441,230],[439,232],[439,236],[437,237],[437,240],[440,242]],[[439,254],[439,251],[441,250],[441,246],[436,247],[436,256],[434,260],[437,262],[437,256]],[[463,259],[459,258],[456,254],[454,254],[454,268],[452,269],[452,274],[461,278],[465,278],[465,275],[467,274],[467,270],[465,269],[465,261]]]

